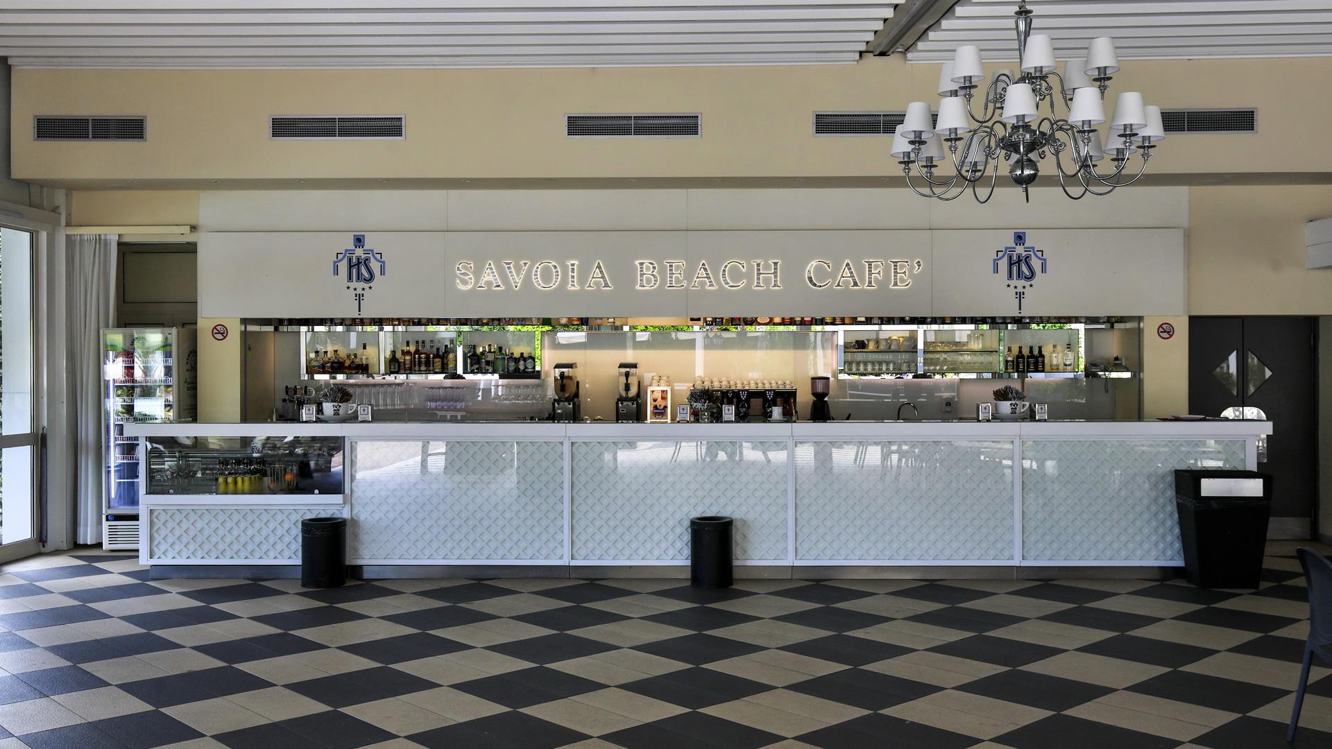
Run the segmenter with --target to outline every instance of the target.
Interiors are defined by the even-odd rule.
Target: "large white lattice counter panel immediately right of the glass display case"
[[[561,442],[353,442],[353,560],[561,560]]]

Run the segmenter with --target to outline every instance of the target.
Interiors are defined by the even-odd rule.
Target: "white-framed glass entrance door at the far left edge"
[[[33,239],[0,227],[0,561],[37,552]]]

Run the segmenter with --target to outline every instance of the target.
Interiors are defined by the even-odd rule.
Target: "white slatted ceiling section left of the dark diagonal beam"
[[[29,68],[854,63],[903,0],[0,0]]]

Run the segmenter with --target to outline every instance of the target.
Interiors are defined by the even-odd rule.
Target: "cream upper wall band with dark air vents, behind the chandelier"
[[[998,68],[999,65],[991,65]],[[414,71],[73,71],[13,75],[13,176],[77,187],[149,180],[875,177],[884,139],[814,137],[821,109],[935,103],[938,65]],[[1112,91],[1164,107],[1257,107],[1260,136],[1171,137],[1154,175],[1317,175],[1332,141],[1332,59],[1126,64]],[[1280,81],[1280,85],[1273,85]],[[1215,84],[1215,85],[1212,85]],[[147,143],[37,143],[33,115],[148,116]],[[270,115],[401,113],[405,140],[274,141]],[[698,112],[701,139],[566,139],[569,112]],[[1261,140],[1260,140],[1261,139]],[[1300,148],[1272,148],[1300,143]],[[1224,155],[1224,157],[1217,157]],[[1217,176],[1224,180],[1224,176]]]

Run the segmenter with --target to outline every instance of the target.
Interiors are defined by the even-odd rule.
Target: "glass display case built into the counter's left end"
[[[344,493],[342,437],[144,437],[143,444],[148,496],[318,496],[328,502]]]

